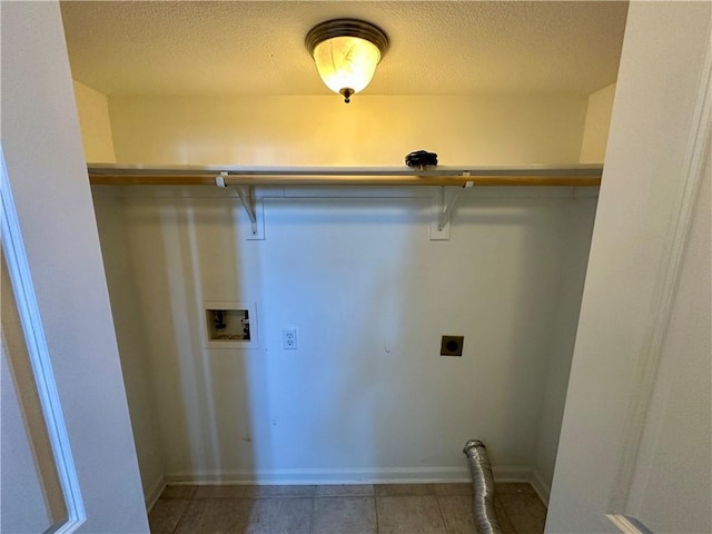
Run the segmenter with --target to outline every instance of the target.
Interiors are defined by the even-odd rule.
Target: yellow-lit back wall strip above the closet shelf
[[[586,97],[111,97],[109,111],[121,162],[398,166],[426,149],[441,165],[571,164]]]

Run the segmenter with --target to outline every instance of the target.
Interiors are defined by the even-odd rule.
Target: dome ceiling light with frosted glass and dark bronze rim
[[[388,50],[378,27],[356,19],[336,19],[312,28],[305,41],[322,80],[348,103],[366,88]]]

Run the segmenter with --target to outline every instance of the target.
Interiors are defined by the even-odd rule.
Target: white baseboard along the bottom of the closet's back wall
[[[497,482],[528,482],[530,466],[494,466]],[[424,484],[472,482],[463,467],[390,467],[350,469],[274,469],[274,471],[195,471],[166,474],[169,484]]]

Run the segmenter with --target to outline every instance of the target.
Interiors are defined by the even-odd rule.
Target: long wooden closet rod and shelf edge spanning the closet
[[[528,167],[218,167],[89,164],[91,185],[214,186],[597,186],[601,165]]]

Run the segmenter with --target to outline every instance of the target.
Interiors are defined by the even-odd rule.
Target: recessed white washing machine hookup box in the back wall
[[[258,348],[255,303],[202,303],[207,348]]]

